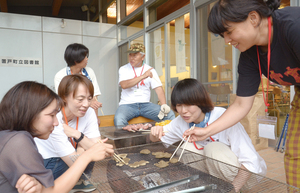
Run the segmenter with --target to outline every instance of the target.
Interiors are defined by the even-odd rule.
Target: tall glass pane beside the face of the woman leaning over
[[[215,106],[228,107],[232,93],[232,46],[225,44],[224,39],[208,32],[207,19],[214,3],[200,7],[198,15],[197,56],[199,65],[198,79],[205,85]]]

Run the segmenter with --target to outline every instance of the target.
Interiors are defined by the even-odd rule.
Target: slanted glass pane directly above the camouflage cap
[[[118,27],[119,41],[144,29],[143,11]]]

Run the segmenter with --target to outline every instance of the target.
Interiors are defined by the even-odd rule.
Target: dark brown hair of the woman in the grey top
[[[46,85],[33,81],[15,85],[0,103],[0,131],[28,131],[36,137],[33,122],[53,100],[59,110],[63,106],[61,98]]]

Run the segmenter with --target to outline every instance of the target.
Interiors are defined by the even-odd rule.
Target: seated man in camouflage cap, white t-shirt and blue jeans
[[[129,63],[119,69],[119,85],[122,87],[115,126],[128,125],[134,117],[143,116],[156,122],[172,120],[174,112],[166,104],[165,92],[155,69],[144,63],[145,47],[132,44],[127,51]],[[151,90],[155,90],[161,106],[150,102]]]

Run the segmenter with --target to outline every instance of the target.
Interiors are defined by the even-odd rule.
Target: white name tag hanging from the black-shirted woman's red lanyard
[[[257,116],[258,136],[268,139],[275,139],[277,131],[277,117]]]

